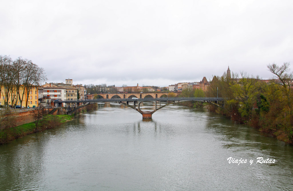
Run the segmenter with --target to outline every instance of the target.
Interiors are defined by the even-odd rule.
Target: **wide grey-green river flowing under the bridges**
[[[133,109],[98,104],[0,145],[0,190],[293,190],[292,169],[292,145],[185,106],[144,121]]]

